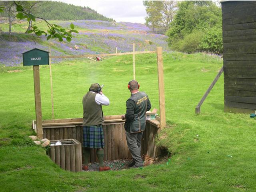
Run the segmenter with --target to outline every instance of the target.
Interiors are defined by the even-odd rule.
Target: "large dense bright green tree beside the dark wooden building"
[[[211,1],[184,1],[178,3],[178,11],[174,17],[173,22],[170,24],[170,28],[166,35],[168,36],[168,45],[174,50],[182,50],[182,47],[186,47],[187,50],[199,51],[205,50],[206,47],[211,47],[211,50],[219,52],[222,47],[220,38],[216,38],[216,35],[220,36],[220,33],[215,29],[222,28],[221,9]],[[191,34],[191,35],[190,35]],[[197,35],[207,35],[213,40],[207,42],[207,38],[197,38],[197,47],[188,48],[188,38],[195,37]],[[186,42],[184,41],[186,39]],[[204,43],[202,43],[204,41]],[[213,45],[209,43],[218,42],[218,48],[213,48]],[[182,46],[186,44],[186,46]],[[194,43],[195,45],[195,43]],[[218,50],[218,51],[217,51]],[[205,50],[208,51],[208,50]]]

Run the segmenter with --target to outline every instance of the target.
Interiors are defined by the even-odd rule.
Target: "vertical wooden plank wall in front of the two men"
[[[158,132],[158,126],[147,122],[146,130],[142,136],[142,154],[148,154],[152,158],[158,157],[158,151],[155,145],[155,138]],[[127,143],[124,130],[124,122],[115,124],[104,124],[104,160],[117,160],[132,158]],[[82,125],[50,125],[43,124],[43,138],[49,140],[76,139],[82,143]],[[96,150],[92,149],[90,162],[98,162]]]

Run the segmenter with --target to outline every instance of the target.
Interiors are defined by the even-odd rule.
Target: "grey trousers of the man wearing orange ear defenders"
[[[143,135],[143,131],[139,133],[129,133],[125,132],[126,141],[128,148],[132,154],[132,158],[135,162],[135,166],[142,167],[143,161],[141,158],[141,138]]]

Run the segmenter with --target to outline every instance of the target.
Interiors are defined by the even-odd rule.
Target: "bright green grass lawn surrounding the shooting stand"
[[[33,71],[0,73],[0,192],[16,191],[256,191],[256,120],[224,113],[223,75],[201,107],[195,107],[222,67],[206,54],[164,54],[167,127],[158,146],[168,148],[170,163],[109,172],[72,173],[60,169],[45,149],[35,146]],[[11,70],[11,68],[8,68]],[[42,116],[51,118],[49,66],[40,67]],[[90,84],[104,84],[110,106],[104,115],[124,114],[133,78],[132,56],[102,62],[68,60],[52,66],[55,118],[82,117],[82,97]],[[136,55],[136,80],[153,108],[158,104],[155,54]]]

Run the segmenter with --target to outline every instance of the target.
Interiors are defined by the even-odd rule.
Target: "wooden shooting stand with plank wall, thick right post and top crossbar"
[[[133,51],[126,53],[79,56],[50,56],[49,59],[82,57],[87,58],[95,56],[120,56],[148,53],[157,54],[160,116],[156,116],[155,120],[146,121],[146,130],[144,131],[142,138],[142,154],[147,154],[151,158],[155,159],[159,155],[158,149],[156,148],[155,145],[155,138],[157,134],[160,132],[161,128],[164,128],[166,126],[162,47],[157,47],[156,51]],[[37,104],[37,100],[35,102]],[[38,113],[42,114],[41,111],[36,110],[36,114]],[[36,117],[38,117],[38,115],[36,115]],[[49,140],[76,139],[82,143],[82,121],[82,118],[42,120],[41,122],[38,122],[37,120],[33,121],[33,128],[37,132],[38,136],[40,136],[41,134],[43,138],[48,138]],[[126,143],[124,122],[125,121],[121,119],[121,115],[104,116],[104,160],[131,158],[131,154],[128,150],[128,146]],[[96,151],[92,149],[90,155],[90,162],[95,161],[97,161]]]

